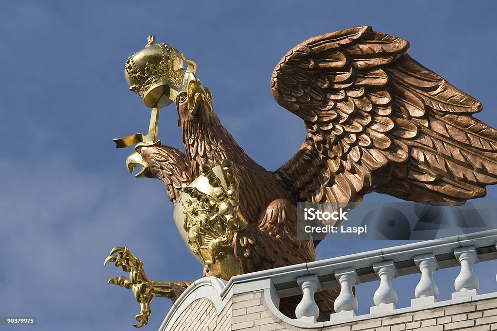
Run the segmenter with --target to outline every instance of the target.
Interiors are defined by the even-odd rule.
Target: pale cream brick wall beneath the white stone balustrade
[[[264,304],[262,292],[234,295],[218,316],[208,299],[194,301],[173,324],[172,331],[444,331],[497,330],[497,300],[481,300],[443,306],[389,317],[317,329],[288,325],[272,315]]]

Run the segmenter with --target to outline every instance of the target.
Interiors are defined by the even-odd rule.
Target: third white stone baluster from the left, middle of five
[[[379,313],[395,309],[397,293],[392,286],[392,278],[397,277],[397,267],[394,261],[384,261],[373,264],[373,270],[380,278],[380,286],[374,293],[373,301],[376,305],[370,308],[370,313]]]

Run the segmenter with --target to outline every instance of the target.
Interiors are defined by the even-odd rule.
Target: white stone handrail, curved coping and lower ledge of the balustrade
[[[412,274],[419,272],[414,263],[415,256],[426,253],[434,253],[435,256],[440,255],[443,257],[443,259],[439,261],[440,268],[447,268],[459,265],[459,262],[454,255],[454,249],[461,247],[475,246],[476,249],[484,247],[489,248],[488,253],[479,255],[480,260],[485,261],[497,259],[496,243],[497,230],[489,230],[469,235],[459,235],[398,247],[383,248],[363,253],[339,256],[315,262],[252,272],[249,274],[234,276],[228,282],[214,277],[201,278],[191,284],[181,294],[178,300],[173,304],[159,330],[169,330],[181,313],[183,313],[185,309],[187,309],[188,306],[195,300],[201,298],[210,300],[214,304],[216,312],[219,315],[228,302],[231,301],[233,295],[256,291],[263,291],[264,304],[267,306],[268,311],[276,322],[281,321],[301,329],[319,329],[339,324],[414,313],[417,311],[457,305],[466,302],[497,299],[497,292],[472,295],[440,302],[426,302],[406,308],[377,311],[372,314],[354,317],[342,316],[339,320],[333,320],[334,316],[332,315],[331,321],[321,323],[293,320],[283,315],[278,309],[280,297],[302,294],[301,289],[297,284],[298,277],[311,274],[317,275],[322,278],[320,279],[320,282],[323,289],[327,289],[339,286],[334,277],[335,271],[339,269],[352,267],[354,270],[360,271],[358,272],[359,280],[361,282],[367,282],[378,279],[372,268],[374,263],[388,260],[403,262],[399,263],[400,267],[397,265],[399,275]],[[371,271],[369,271],[368,268],[370,268]]]

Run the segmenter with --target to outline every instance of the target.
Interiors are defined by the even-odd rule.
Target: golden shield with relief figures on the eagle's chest
[[[247,226],[238,210],[238,179],[233,163],[200,167],[201,175],[183,188],[173,219],[195,258],[215,276],[241,273],[232,247],[234,233]]]

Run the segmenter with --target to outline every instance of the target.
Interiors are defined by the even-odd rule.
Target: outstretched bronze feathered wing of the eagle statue
[[[313,37],[276,66],[276,101],[307,137],[277,172],[299,201],[358,202],[377,191],[463,202],[497,183],[497,130],[481,103],[424,68],[398,37],[358,27]]]

